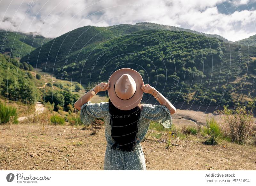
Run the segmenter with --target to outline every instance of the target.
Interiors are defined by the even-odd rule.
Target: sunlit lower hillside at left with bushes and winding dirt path
[[[10,104],[17,103],[21,107],[30,107],[38,101],[49,102],[55,111],[68,111],[78,99],[80,91],[84,91],[77,82],[57,80],[51,74],[39,69],[34,71],[31,65],[19,63],[2,54],[0,66],[0,102],[8,100]]]

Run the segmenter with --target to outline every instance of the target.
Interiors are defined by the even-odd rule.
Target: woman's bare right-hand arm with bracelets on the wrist
[[[141,86],[141,90],[145,93],[152,94],[154,97],[157,96],[157,92],[158,92],[154,87],[151,87],[149,84],[144,85],[144,83]],[[160,103],[160,105],[166,106],[166,108],[170,111],[171,114],[174,114],[176,112],[176,108],[160,92],[159,92],[159,97],[158,97],[157,101]]]

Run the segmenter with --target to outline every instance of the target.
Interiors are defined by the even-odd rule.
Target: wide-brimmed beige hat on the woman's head
[[[121,68],[110,76],[109,81],[108,96],[116,108],[131,110],[140,104],[143,79],[136,70]]]

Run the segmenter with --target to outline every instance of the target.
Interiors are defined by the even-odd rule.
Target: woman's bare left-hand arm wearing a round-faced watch
[[[93,90],[95,91],[95,94],[97,94],[100,91],[105,91],[109,89],[109,83],[100,83],[99,85],[96,85]],[[91,98],[94,96],[92,95],[92,89],[89,90],[87,93],[84,94],[84,96],[80,97],[76,103],[74,104],[74,107],[77,108],[79,111],[81,110],[81,107],[91,100]]]

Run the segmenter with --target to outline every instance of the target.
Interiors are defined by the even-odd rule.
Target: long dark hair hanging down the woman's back
[[[131,110],[120,110],[108,100],[110,113],[111,137],[115,140],[112,149],[122,151],[134,151],[137,140],[138,125],[140,119],[141,106],[138,105]]]

